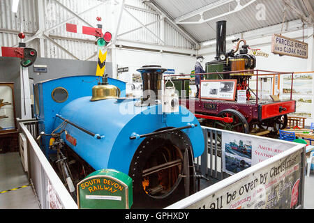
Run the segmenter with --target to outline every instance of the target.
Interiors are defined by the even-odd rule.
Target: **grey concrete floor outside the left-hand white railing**
[[[0,192],[29,185],[19,153],[0,154]],[[39,209],[32,187],[0,194],[0,209]]]

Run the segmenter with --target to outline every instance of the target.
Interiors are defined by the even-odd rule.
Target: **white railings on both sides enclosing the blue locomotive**
[[[31,179],[33,186],[35,187],[36,194],[38,195],[38,200],[40,201],[40,208],[65,208],[65,209],[76,209],[77,204],[73,198],[64,187],[63,183],[57,176],[56,172],[48,162],[47,158],[40,150],[38,144],[34,138],[36,138],[37,128],[30,127],[30,123],[37,124],[36,120],[22,121],[17,118],[19,123],[20,132],[24,134],[27,138],[27,151],[29,157],[29,178]],[[304,144],[295,144],[288,141],[281,141],[278,139],[269,139],[267,141],[273,141],[276,143],[281,143],[283,145],[289,145],[290,148],[283,153],[274,155],[263,162],[257,163],[252,167],[244,169],[237,174],[228,176],[224,178],[223,172],[223,155],[222,155],[222,138],[223,134],[234,134],[240,137],[250,137],[251,139],[266,139],[264,137],[257,137],[254,135],[241,134],[238,132],[229,132],[225,130],[218,130],[214,128],[203,127],[204,137],[205,137],[205,151],[201,157],[195,159],[196,168],[204,176],[210,176],[220,181],[211,185],[200,192],[197,192],[186,199],[182,199],[177,203],[168,206],[166,209],[182,209],[182,208],[209,208],[204,206],[204,203],[208,203],[215,195],[225,194],[226,190],[230,187],[237,187],[237,184],[243,183],[245,180],[254,180],[264,169],[270,168],[271,165],[278,164],[282,160],[285,160],[291,155],[296,155],[299,159],[299,190],[297,203],[294,208],[303,208],[304,205],[304,176],[305,176],[305,146]],[[29,132],[31,130],[31,132]],[[37,132],[37,133],[36,133]],[[219,154],[220,153],[220,154]],[[220,157],[220,159],[218,159]],[[218,176],[220,174],[220,176]],[[285,174],[285,173],[283,173]],[[260,186],[260,185],[259,185]],[[268,190],[271,190],[271,186]],[[255,192],[261,190],[260,187],[255,188]],[[266,193],[266,190],[264,190]],[[229,193],[229,192],[228,192]],[[266,195],[264,195],[266,196]],[[221,195],[223,199],[223,195]],[[216,199],[216,198],[215,198]],[[227,199],[224,197],[224,199]],[[265,197],[264,197],[265,199]],[[260,199],[260,202],[263,202]],[[257,203],[258,204],[258,203]],[[256,205],[256,204],[255,204]]]

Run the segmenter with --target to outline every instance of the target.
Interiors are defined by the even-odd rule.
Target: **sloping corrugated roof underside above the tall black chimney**
[[[190,1],[190,0],[151,0],[156,3],[156,6],[161,8],[171,16],[173,20],[198,10],[202,7],[208,6],[211,3],[215,3],[215,0],[202,0],[202,1]],[[251,0],[241,0],[241,5],[248,3]],[[304,6],[301,0],[292,0],[294,6],[296,6],[304,15],[308,16],[308,10]],[[257,13],[259,8],[258,4],[263,4],[265,6],[266,17],[265,20],[257,20]],[[314,1],[311,1],[311,5],[314,7]],[[207,10],[203,13],[204,20],[216,15],[222,15],[230,10],[233,10],[237,6],[236,1],[232,1],[218,8],[212,10]],[[227,36],[236,33],[243,33],[246,31],[251,31],[254,29],[260,29],[267,26],[272,26],[275,24],[281,24],[283,22],[283,12],[285,5],[281,0],[257,0],[246,8],[238,11],[237,13],[232,13],[225,17],[219,17],[216,20],[211,20],[209,22],[204,22],[202,24],[179,24],[183,29],[185,29],[191,36],[193,36],[200,43],[212,40],[216,38],[216,22],[219,20],[227,21]],[[191,17],[188,21],[198,21],[200,15],[195,15]],[[300,17],[296,13],[292,13],[290,10],[286,10],[285,22],[292,20],[299,20]],[[186,20],[185,20],[186,21]]]

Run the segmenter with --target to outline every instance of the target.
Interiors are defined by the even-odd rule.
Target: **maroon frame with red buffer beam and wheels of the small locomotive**
[[[284,128],[287,114],[295,112],[295,100],[273,102],[255,100],[236,101],[206,100],[198,98],[180,99],[197,118],[203,118],[201,125],[252,134],[268,134]],[[232,121],[230,121],[232,118]],[[259,129],[259,130],[258,130]]]

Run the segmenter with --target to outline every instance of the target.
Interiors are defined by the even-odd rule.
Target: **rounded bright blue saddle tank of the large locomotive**
[[[133,155],[144,140],[130,140],[134,132],[146,134],[161,128],[197,124],[182,132],[188,135],[195,157],[204,151],[200,123],[185,107],[180,107],[177,113],[164,115],[161,105],[136,107],[135,100],[107,99],[91,102],[89,99],[83,97],[73,100],[61,109],[59,115],[91,132],[105,136],[103,139],[94,139],[72,125],[66,125],[66,132],[77,140],[76,146],[73,146],[66,140],[66,134],[61,134],[66,144],[94,169],[117,169],[128,174]],[[61,123],[61,118],[57,118],[54,128]]]

